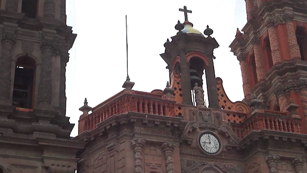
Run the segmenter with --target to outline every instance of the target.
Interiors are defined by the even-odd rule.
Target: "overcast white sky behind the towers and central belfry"
[[[78,110],[87,98],[95,107],[122,90],[126,80],[126,24],[128,18],[129,76],[134,90],[150,92],[165,88],[169,80],[164,53],[167,38],[177,31],[177,21],[184,22],[178,9],[192,10],[188,20],[203,32],[207,25],[214,31],[220,47],[214,50],[216,77],[223,79],[232,101],[242,100],[239,61],[228,46],[236,28],[245,25],[244,0],[155,0],[101,1],[66,0],[67,25],[78,34],[69,51],[66,67],[66,116],[75,123],[71,136],[78,135]],[[207,95],[207,94],[205,94]]]

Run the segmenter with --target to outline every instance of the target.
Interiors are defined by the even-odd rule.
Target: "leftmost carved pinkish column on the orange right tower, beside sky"
[[[243,55],[240,55],[237,58],[241,66],[244,97],[247,98],[248,96],[251,95],[251,86],[250,86],[248,70],[247,70],[247,62],[246,62],[245,56]]]

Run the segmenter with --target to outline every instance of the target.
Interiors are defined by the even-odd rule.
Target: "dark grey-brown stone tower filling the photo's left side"
[[[65,71],[75,41],[65,0],[0,1],[0,172],[74,172]],[[69,151],[69,152],[68,152]]]

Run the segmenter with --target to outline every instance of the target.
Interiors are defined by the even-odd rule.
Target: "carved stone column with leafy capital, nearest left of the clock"
[[[165,167],[166,173],[174,173],[174,165],[173,165],[173,151],[175,147],[174,142],[165,142],[162,144],[162,149],[165,156]]]

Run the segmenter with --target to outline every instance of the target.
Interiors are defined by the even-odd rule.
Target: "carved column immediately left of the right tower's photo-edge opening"
[[[296,34],[293,26],[293,16],[286,15],[286,34],[290,50],[291,59],[301,59],[300,47],[297,44]]]

